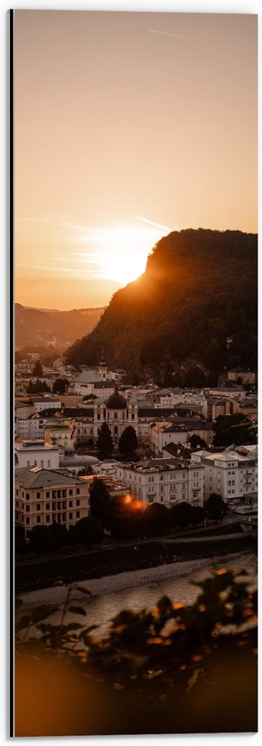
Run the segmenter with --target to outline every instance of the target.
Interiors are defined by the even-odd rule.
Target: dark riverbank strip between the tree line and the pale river
[[[16,593],[20,595],[53,588],[57,596],[61,584],[83,581],[90,584],[98,579],[103,579],[107,588],[110,576],[132,576],[138,571],[152,570],[152,577],[155,577],[156,568],[158,572],[162,568],[164,577],[169,566],[179,567],[185,562],[196,563],[202,559],[215,560],[235,552],[256,553],[256,550],[257,540],[250,535],[213,537],[212,542],[199,539],[194,543],[169,543],[162,540],[115,547],[110,552],[101,549],[86,555],[58,557],[55,562],[50,560],[30,566],[20,565],[16,568]]]

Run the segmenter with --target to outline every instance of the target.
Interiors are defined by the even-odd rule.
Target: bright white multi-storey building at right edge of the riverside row
[[[212,492],[227,504],[258,503],[258,448],[235,446],[222,453],[196,451],[192,459],[204,467],[204,497]]]

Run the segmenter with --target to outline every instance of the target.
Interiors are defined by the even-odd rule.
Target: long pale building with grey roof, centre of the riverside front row
[[[117,479],[145,504],[167,507],[187,502],[203,504],[203,466],[175,458],[151,458],[137,464],[118,464]]]

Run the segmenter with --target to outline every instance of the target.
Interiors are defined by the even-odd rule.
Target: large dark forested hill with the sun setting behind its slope
[[[165,236],[145,274],[115,293],[97,327],[69,349],[68,361],[96,364],[103,349],[108,364],[138,377],[162,370],[166,381],[188,360],[205,372],[254,368],[257,244],[256,234],[240,231]]]

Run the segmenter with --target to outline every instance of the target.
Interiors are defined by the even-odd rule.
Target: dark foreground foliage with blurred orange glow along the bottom
[[[125,609],[105,638],[77,583],[59,607],[17,599],[16,735],[256,730],[257,592],[225,568],[195,585],[192,606]]]

